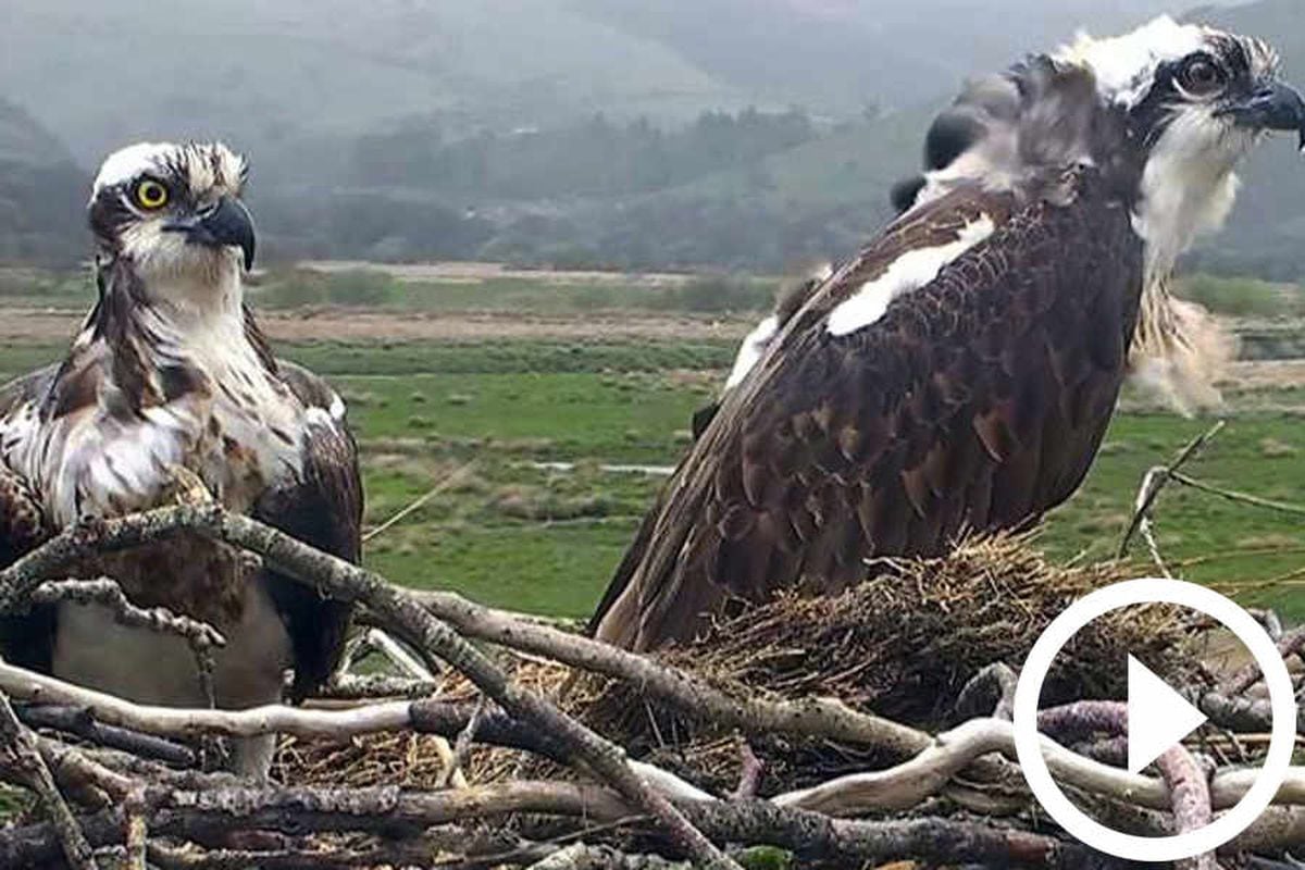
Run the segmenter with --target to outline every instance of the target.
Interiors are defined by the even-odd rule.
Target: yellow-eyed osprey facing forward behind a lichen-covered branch
[[[254,230],[247,166],[221,143],[141,143],[111,155],[90,198],[99,299],[63,363],[0,393],[0,563],[59,530],[214,498],[356,562],[361,488],[345,404],[277,360],[244,301]],[[202,488],[202,492],[196,492]],[[77,565],[140,607],[204,620],[218,706],[301,699],[335,668],[350,608],[238,550],[181,535]],[[8,617],[13,663],[141,703],[204,706],[185,642],[127,629],[99,605]],[[244,741],[261,775],[274,741]]]

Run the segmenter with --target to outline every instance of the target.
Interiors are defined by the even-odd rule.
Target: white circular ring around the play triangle
[[[1101,824],[1074,806],[1047,770],[1037,733],[1037,703],[1043,682],[1061,648],[1092,620],[1130,604],[1178,604],[1214,617],[1241,640],[1254,656],[1272,708],[1272,728],[1265,766],[1237,805],[1210,824],[1188,833],[1143,837]],[[1255,620],[1231,599],[1195,583],[1143,578],[1113,583],[1074,601],[1052,620],[1034,643],[1015,686],[1013,715],[1015,755],[1028,788],[1043,809],[1073,837],[1117,858],[1134,861],[1181,861],[1214,852],[1245,831],[1272,802],[1287,777],[1296,743],[1296,698],[1287,664],[1272,639]]]

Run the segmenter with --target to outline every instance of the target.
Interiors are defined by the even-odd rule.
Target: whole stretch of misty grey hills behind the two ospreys
[[[966,76],[1081,27],[1116,33],[1174,10],[1159,0],[0,8],[0,232],[21,223],[18,254],[60,237],[82,249],[80,227],[50,222],[80,210],[86,173],[112,147],[219,137],[252,158],[270,257],[731,269],[855,248],[887,217],[887,187],[916,167],[932,112]],[[1259,0],[1202,14],[1272,39],[1300,78],[1300,8]],[[57,209],[29,202],[37,172],[59,179],[42,176]],[[1202,262],[1301,274],[1305,162],[1276,142],[1248,175],[1233,228]]]

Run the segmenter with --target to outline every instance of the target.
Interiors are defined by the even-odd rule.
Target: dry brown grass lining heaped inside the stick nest
[[[981,669],[993,663],[1018,667],[1071,601],[1128,577],[1117,565],[1051,565],[1027,537],[975,539],[941,558],[881,561],[867,582],[837,596],[786,595],[746,609],[692,646],[655,657],[739,697],[838,698],[937,730],[954,724],[955,702]],[[1129,653],[1174,683],[1191,683],[1201,673],[1195,633],[1174,616],[1172,608],[1144,605],[1087,625],[1057,656],[1044,703],[1125,697]],[[656,703],[637,686],[594,676],[576,680],[551,663],[518,660],[514,677],[633,755],[709,789],[733,788],[739,747],[718,725]],[[448,697],[470,698],[474,690],[455,682]],[[282,755],[283,773],[288,781],[324,781],[318,777],[326,772],[331,784],[429,787],[440,771],[431,741],[368,738],[330,753],[291,745]],[[752,749],[766,767],[763,793],[886,760],[827,741],[763,737]],[[472,758],[468,779],[543,775],[540,764],[517,753],[483,750]]]

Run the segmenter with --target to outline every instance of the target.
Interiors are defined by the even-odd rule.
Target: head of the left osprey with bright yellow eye
[[[90,227],[102,254],[125,257],[146,282],[239,275],[254,231],[240,202],[248,167],[226,145],[141,142],[111,154],[95,177]]]

